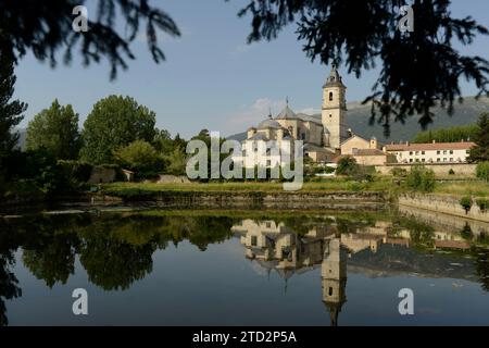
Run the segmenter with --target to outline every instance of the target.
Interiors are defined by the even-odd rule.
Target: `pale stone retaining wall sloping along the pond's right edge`
[[[399,204],[489,222],[489,211],[480,211],[479,207],[474,202],[471,210],[465,212],[465,209],[460,204],[459,197],[404,194],[399,196]]]

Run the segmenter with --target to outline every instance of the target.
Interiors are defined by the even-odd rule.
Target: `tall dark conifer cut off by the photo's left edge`
[[[0,167],[3,166],[2,159],[17,145],[18,133],[14,132],[14,127],[22,121],[22,113],[27,109],[27,104],[11,100],[15,79],[12,59],[0,52]]]

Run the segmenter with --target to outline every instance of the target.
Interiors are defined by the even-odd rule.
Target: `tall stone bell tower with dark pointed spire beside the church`
[[[323,86],[322,122],[329,138],[325,146],[334,149],[339,149],[348,138],[346,91],[347,87],[341,82],[336,65],[333,65]]]

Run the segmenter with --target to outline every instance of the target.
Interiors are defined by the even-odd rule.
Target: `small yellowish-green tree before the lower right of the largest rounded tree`
[[[163,169],[163,160],[151,144],[136,140],[114,152],[116,161],[136,172],[137,176],[151,176]]]

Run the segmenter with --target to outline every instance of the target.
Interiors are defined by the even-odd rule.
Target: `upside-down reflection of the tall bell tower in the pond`
[[[321,268],[323,283],[323,302],[329,310],[331,326],[338,325],[338,314],[347,301],[347,250],[341,247],[340,238],[329,239],[326,244]]]

